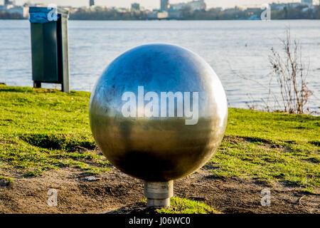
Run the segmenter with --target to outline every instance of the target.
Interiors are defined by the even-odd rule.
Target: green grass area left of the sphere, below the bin
[[[90,93],[0,86],[1,169],[25,177],[60,167],[92,175],[110,167],[98,155],[87,115]]]

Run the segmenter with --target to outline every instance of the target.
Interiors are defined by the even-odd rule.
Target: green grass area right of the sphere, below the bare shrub
[[[218,152],[206,164],[217,177],[250,177],[272,185],[319,187],[320,118],[229,109]]]

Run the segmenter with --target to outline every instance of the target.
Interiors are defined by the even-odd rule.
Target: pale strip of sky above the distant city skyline
[[[0,4],[4,0],[0,0]],[[171,4],[178,2],[187,2],[187,0],[169,0]],[[191,1],[191,0],[189,0]],[[262,4],[267,3],[289,3],[298,2],[300,0],[205,0],[207,7],[223,7],[223,8],[233,8],[234,6],[257,6],[260,7]],[[316,0],[314,0],[316,1]],[[16,4],[21,5],[25,3],[26,0],[16,0]],[[58,6],[88,6],[89,0],[29,0],[31,3],[42,3],[42,4],[57,4]],[[137,2],[140,6],[144,6],[146,9],[159,9],[160,0],[95,0],[97,5],[101,6],[117,6],[129,8],[133,2]]]

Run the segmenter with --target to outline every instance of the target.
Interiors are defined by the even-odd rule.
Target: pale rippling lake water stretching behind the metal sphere
[[[72,90],[92,90],[107,65],[129,48],[173,43],[202,56],[220,77],[230,107],[238,108],[267,99],[270,48],[282,51],[280,40],[290,28],[309,68],[309,89],[314,93],[309,107],[319,110],[320,21],[69,21],[68,26]],[[27,20],[0,20],[0,82],[32,86]],[[271,86],[277,93],[275,83]]]

